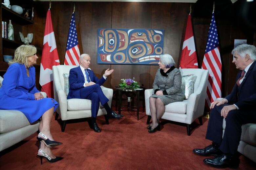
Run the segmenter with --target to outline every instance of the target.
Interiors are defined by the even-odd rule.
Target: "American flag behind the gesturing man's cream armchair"
[[[73,12],[69,26],[64,65],[79,65],[79,56],[80,52],[78,48],[78,37],[76,34],[75,12]]]

